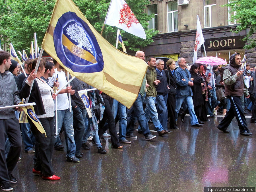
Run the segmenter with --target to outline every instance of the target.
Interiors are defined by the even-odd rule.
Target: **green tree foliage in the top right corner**
[[[236,23],[238,23],[234,32],[237,33],[249,29],[249,33],[243,38],[248,43],[244,48],[255,48],[256,37],[253,34],[256,32],[256,0],[232,0],[225,6],[230,7],[230,21],[234,22],[236,20]]]

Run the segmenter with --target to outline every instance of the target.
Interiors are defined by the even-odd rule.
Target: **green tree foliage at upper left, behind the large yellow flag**
[[[100,33],[108,11],[110,0],[74,0],[88,21]],[[157,32],[148,29],[148,21],[152,15],[144,13],[148,0],[127,0],[127,4],[142,24],[146,32],[146,40],[121,30],[124,44],[127,49],[137,51],[147,46],[152,36]],[[0,38],[1,43],[10,42],[16,51],[25,49],[29,52],[31,41],[34,41],[34,32],[37,34],[38,46],[46,33],[54,0],[2,0],[0,1]],[[117,28],[105,26],[102,36],[115,46]],[[127,40],[126,40],[127,39]]]

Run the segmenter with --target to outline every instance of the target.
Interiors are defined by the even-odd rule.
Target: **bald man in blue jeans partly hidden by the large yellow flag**
[[[135,54],[135,57],[138,57],[144,61],[145,53],[143,51],[137,51]],[[136,115],[139,121],[139,125],[142,129],[142,133],[145,136],[146,141],[149,141],[151,139],[156,138],[156,136],[152,135],[149,131],[148,121],[146,120],[143,106],[142,106],[146,96],[146,87],[148,87],[148,84],[146,83],[146,75],[145,75],[138,97],[133,103],[133,106],[127,111],[127,127],[126,127],[125,136],[129,138],[134,138],[134,139],[137,138],[137,136],[133,134],[133,127],[135,123],[134,115]]]

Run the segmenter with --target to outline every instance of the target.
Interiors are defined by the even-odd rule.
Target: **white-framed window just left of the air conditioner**
[[[178,30],[178,4],[177,1],[167,3],[167,28],[168,32]]]

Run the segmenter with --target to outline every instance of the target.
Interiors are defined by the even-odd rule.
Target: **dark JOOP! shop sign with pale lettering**
[[[216,51],[224,49],[243,48],[243,36],[226,37],[226,38],[212,38],[205,40],[205,49],[207,51]]]

